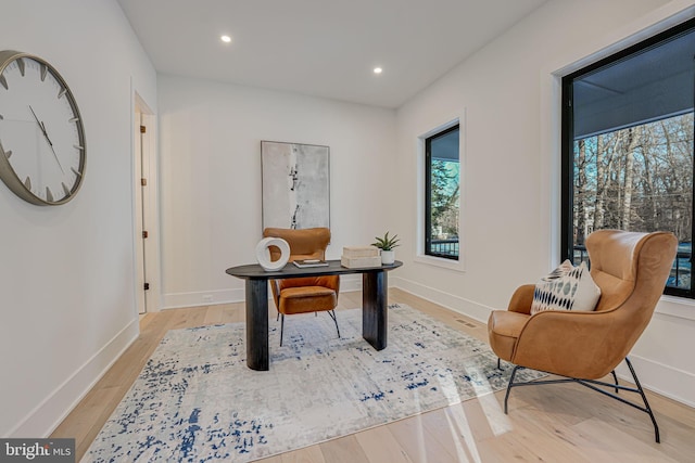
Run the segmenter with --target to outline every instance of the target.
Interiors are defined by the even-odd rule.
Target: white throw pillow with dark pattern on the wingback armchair
[[[586,263],[574,267],[565,260],[535,284],[531,314],[543,310],[592,311],[599,297],[601,288],[591,278]]]

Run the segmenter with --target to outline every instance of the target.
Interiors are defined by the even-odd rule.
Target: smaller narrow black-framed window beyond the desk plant
[[[425,139],[425,254],[458,260],[458,125]]]

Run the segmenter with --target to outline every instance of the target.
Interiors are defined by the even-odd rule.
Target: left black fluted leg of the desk
[[[247,280],[247,366],[268,370],[268,282]]]

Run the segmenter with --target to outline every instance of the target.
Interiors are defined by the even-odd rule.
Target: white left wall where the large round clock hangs
[[[131,88],[152,106],[156,75],[115,0],[0,7],[1,49],[53,64],[87,137],[70,203],[39,207],[0,183],[0,436],[46,436],[137,336]]]

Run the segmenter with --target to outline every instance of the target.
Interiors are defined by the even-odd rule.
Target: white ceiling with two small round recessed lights
[[[159,73],[399,107],[546,1],[118,3]]]

